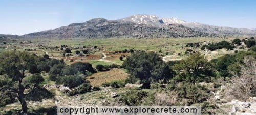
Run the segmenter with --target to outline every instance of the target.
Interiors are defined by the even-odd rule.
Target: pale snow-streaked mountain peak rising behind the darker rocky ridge
[[[178,18],[159,18],[155,15],[138,14],[130,17],[122,18],[120,20],[131,21],[134,23],[143,23],[152,26],[163,27],[169,24],[182,24],[186,27],[192,28],[195,31],[205,32],[209,34],[218,35],[256,35],[255,30],[246,28],[232,28],[202,24],[198,22],[186,22]]]

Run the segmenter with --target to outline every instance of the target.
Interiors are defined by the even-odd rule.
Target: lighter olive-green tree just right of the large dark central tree
[[[193,53],[187,59],[181,60],[173,68],[178,74],[177,80],[179,81],[203,81],[208,76],[214,75],[207,63],[207,59],[200,53]]]

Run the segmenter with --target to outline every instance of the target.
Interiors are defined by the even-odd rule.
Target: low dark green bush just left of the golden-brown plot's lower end
[[[58,84],[63,84],[64,86],[67,86],[69,88],[75,88],[78,85],[86,82],[85,78],[79,75],[68,75],[63,76],[60,78],[60,80],[57,82]]]

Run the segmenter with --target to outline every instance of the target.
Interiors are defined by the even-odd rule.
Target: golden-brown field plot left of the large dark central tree
[[[87,80],[90,81],[92,86],[100,86],[105,82],[124,80],[127,76],[128,74],[124,70],[114,68],[109,71],[95,73],[92,76],[87,77]]]

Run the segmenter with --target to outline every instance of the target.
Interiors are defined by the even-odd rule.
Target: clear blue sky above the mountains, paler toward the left
[[[254,0],[1,0],[0,33],[23,35],[92,18],[114,20],[134,14],[256,28]]]

